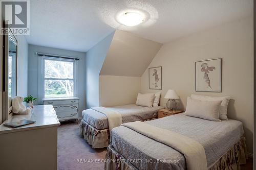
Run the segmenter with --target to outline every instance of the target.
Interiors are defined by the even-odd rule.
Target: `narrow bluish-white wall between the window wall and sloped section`
[[[114,33],[106,36],[86,53],[86,106],[99,106],[99,73]]]

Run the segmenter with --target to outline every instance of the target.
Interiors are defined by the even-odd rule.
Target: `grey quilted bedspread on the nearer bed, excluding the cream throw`
[[[198,141],[204,147],[208,167],[220,159],[244,134],[242,123],[237,120],[214,122],[182,113],[145,123]],[[129,128],[114,128],[111,143],[126,159],[142,160],[131,162],[138,169],[186,169],[183,154]]]

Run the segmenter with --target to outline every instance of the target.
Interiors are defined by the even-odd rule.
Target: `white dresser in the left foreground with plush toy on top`
[[[22,119],[33,124],[8,128],[5,123]],[[29,114],[11,116],[0,125],[0,169],[57,170],[57,127],[59,121],[51,105],[34,106]]]

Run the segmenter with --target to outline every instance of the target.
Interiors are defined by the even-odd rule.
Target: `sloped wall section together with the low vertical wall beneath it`
[[[100,70],[99,106],[134,104],[140,92],[140,77],[161,45],[116,30]]]

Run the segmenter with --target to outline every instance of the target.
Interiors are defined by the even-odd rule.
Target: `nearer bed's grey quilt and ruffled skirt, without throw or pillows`
[[[214,122],[181,113],[145,124],[198,141],[208,169],[239,169],[247,158],[243,126],[237,120]],[[125,126],[113,129],[105,159],[111,160],[105,169],[188,169],[181,152]]]

